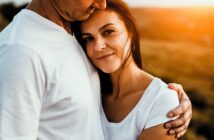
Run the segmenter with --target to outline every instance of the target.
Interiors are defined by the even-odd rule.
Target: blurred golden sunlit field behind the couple
[[[23,6],[0,5],[0,31]],[[183,85],[193,118],[182,140],[214,140],[214,7],[133,8],[144,70]]]

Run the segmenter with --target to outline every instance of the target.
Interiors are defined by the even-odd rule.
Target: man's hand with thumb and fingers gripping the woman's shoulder
[[[187,131],[188,125],[192,118],[192,105],[181,85],[171,83],[168,85],[168,87],[177,92],[180,105],[167,114],[169,118],[175,116],[178,116],[178,118],[174,121],[165,123],[164,126],[166,129],[169,129],[169,135],[176,134],[176,137],[179,138],[183,136]]]

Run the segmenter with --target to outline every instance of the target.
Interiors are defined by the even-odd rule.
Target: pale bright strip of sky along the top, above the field
[[[2,2],[16,2],[22,4],[30,0],[0,0]],[[130,6],[157,6],[157,7],[178,7],[178,6],[214,6],[214,0],[125,0]]]

